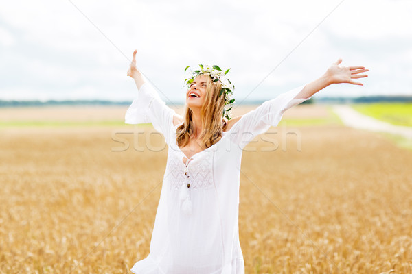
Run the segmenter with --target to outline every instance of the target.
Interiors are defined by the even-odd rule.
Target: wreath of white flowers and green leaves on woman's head
[[[226,117],[227,120],[230,120],[231,109],[233,108],[233,103],[235,101],[235,99],[233,98],[233,90],[235,89],[235,86],[231,84],[230,80],[226,77],[226,74],[229,72],[230,69],[227,69],[225,72],[223,72],[220,69],[220,67],[216,65],[210,66],[199,64],[199,66],[201,66],[200,70],[192,71],[192,69],[190,69],[190,71],[192,71],[192,77],[185,79],[187,87],[190,88],[190,84],[192,84],[194,78],[196,78],[198,75],[203,74],[209,74],[211,76],[212,82],[220,81],[222,89],[220,90],[219,96],[225,96],[225,107],[223,108],[223,117]],[[185,73],[189,68],[190,66],[186,66]]]

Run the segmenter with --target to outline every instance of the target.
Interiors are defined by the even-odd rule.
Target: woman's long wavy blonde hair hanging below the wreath
[[[201,108],[201,147],[204,149],[214,145],[222,138],[222,130],[226,127],[227,122],[222,119],[223,108],[225,107],[225,97],[219,96],[221,84],[219,81],[212,82],[209,74],[206,80],[205,100]],[[176,142],[179,147],[185,147],[190,142],[190,136],[194,134],[194,125],[192,121],[193,112],[185,105],[185,114],[183,124],[176,129]]]

